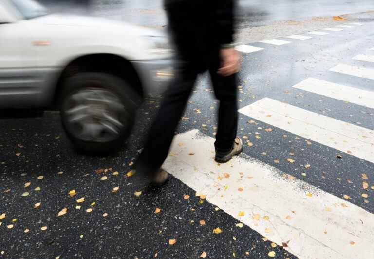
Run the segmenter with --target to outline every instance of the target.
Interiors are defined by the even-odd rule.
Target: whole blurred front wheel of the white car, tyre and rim
[[[119,77],[80,73],[65,80],[62,125],[75,148],[106,155],[122,147],[134,124],[141,97]]]

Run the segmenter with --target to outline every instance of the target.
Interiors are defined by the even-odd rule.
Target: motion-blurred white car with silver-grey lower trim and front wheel
[[[142,97],[169,80],[171,67],[158,31],[0,0],[0,108],[60,110],[78,149],[120,147]]]

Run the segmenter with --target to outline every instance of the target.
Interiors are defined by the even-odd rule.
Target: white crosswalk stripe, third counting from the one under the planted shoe
[[[293,87],[374,109],[374,92],[371,91],[361,90],[315,78],[305,79]]]

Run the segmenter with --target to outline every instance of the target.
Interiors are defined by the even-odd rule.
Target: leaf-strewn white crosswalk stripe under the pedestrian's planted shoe
[[[176,136],[163,167],[299,258],[374,258],[373,214],[244,154],[220,166],[213,157],[214,139],[192,130]]]

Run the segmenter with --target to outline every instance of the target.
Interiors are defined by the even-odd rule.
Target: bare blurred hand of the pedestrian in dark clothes
[[[239,53],[234,48],[221,49],[221,68],[218,69],[218,74],[227,77],[239,72]]]

